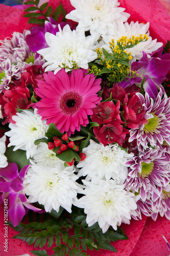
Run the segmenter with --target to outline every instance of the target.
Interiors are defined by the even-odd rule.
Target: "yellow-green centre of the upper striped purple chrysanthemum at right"
[[[145,133],[151,133],[153,135],[154,133],[157,133],[157,134],[160,133],[158,129],[161,128],[160,126],[161,119],[155,114],[152,114],[152,115],[154,117],[148,119],[148,123],[144,124],[143,130]]]

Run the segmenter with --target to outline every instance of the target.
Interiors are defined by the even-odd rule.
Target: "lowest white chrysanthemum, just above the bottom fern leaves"
[[[140,197],[124,189],[124,185],[114,180],[84,181],[85,196],[78,200],[78,207],[84,208],[86,222],[92,226],[98,222],[103,232],[111,225],[115,230],[122,222],[130,223],[131,215],[137,209],[136,202]],[[135,214],[136,215],[136,214]]]

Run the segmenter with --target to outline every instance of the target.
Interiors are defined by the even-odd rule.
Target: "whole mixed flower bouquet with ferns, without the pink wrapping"
[[[113,253],[122,223],[170,220],[169,41],[116,0],[24,4],[0,47],[4,225],[33,255]]]

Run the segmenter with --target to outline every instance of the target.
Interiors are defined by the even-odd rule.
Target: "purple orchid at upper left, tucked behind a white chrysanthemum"
[[[45,24],[42,27],[32,28],[31,34],[26,36],[27,45],[33,52],[49,47],[45,40],[45,33],[49,32],[53,35],[56,35],[59,32],[58,23],[53,18],[48,18],[50,21],[45,21]],[[65,22],[60,23],[61,29],[66,25]]]

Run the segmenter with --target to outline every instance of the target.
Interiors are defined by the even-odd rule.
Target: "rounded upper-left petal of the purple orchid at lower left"
[[[0,176],[9,180],[15,179],[19,175],[16,163],[8,163],[8,166],[0,169]]]

